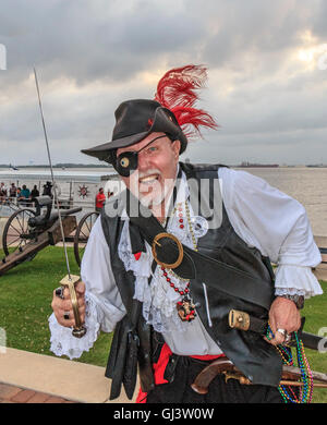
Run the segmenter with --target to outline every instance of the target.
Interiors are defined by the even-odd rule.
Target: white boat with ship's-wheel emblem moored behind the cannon
[[[83,214],[95,209],[95,197],[100,187],[104,187],[106,195],[108,193],[117,195],[123,189],[123,183],[113,168],[108,168],[106,173],[88,170],[53,169],[53,177],[61,207],[83,207]],[[16,187],[22,187],[25,184],[29,190],[36,185],[39,194],[43,195],[44,186],[47,182],[51,182],[51,172],[50,170],[31,169],[0,170],[0,183],[2,182],[7,189],[12,183]],[[9,217],[19,206],[16,198],[8,197],[5,201],[3,199],[0,203],[0,217]],[[29,205],[24,203],[24,207],[29,206],[33,208],[33,203],[29,203]]]

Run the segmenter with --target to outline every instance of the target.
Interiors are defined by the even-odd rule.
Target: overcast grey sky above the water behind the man
[[[47,162],[33,66],[53,163],[100,163],[80,150],[111,139],[118,105],[189,63],[220,127],[183,158],[327,163],[326,17],[324,0],[2,0],[0,163]]]

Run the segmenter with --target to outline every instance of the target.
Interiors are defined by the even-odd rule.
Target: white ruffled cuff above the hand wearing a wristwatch
[[[276,295],[304,295],[310,299],[323,293],[311,267],[280,265],[276,269],[275,288]]]

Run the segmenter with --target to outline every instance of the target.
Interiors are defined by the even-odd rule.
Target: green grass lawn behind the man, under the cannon
[[[71,272],[80,269],[72,248],[69,250]],[[0,258],[3,252],[0,250]],[[66,275],[63,250],[49,246],[32,260],[25,262],[0,277],[0,328],[5,330],[10,348],[55,355],[49,350],[48,317],[51,315],[53,289]],[[306,321],[304,330],[318,333],[327,327],[327,282],[320,282],[324,295],[307,300],[302,315]],[[106,366],[111,333],[100,333],[94,349],[84,353],[76,362]],[[327,352],[306,349],[311,368],[327,373]],[[295,355],[295,353],[294,353]],[[327,402],[327,389],[316,389],[314,402]]]

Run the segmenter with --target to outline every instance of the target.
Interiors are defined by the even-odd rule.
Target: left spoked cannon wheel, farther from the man
[[[2,235],[2,245],[5,255],[9,255],[15,251],[22,251],[29,240],[24,235],[29,233],[28,219],[35,217],[35,211],[29,208],[17,209],[12,216],[9,217]],[[33,259],[36,254],[33,254],[27,259]]]

